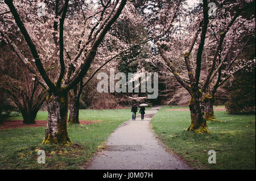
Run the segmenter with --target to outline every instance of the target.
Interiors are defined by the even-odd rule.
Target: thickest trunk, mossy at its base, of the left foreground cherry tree
[[[48,96],[48,120],[46,136],[42,144],[69,144],[71,143],[67,131],[68,95]]]

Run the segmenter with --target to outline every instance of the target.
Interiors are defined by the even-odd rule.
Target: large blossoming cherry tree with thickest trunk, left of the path
[[[67,132],[68,92],[86,75],[126,0],[49,1],[42,16],[38,16],[39,2],[6,0],[0,12],[5,21],[1,24],[1,34],[36,81],[48,91],[43,144],[67,144],[71,142]],[[30,48],[32,60],[8,36],[16,27]],[[46,66],[54,66],[55,71],[47,73]]]

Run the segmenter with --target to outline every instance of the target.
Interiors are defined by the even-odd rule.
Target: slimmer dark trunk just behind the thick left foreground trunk
[[[80,124],[79,123],[79,97],[73,96],[69,99],[69,119],[68,123]]]

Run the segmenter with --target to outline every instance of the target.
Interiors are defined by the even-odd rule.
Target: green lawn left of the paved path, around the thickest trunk
[[[102,120],[97,124],[68,125],[73,144],[42,145],[45,127],[0,130],[0,169],[82,169],[101,149],[110,133],[130,119],[129,110],[80,110],[80,120]],[[20,116],[10,119],[22,119]],[[40,111],[36,120],[46,120]],[[37,162],[38,150],[46,151],[46,164]]]

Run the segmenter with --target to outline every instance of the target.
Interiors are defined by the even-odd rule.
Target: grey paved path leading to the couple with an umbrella
[[[191,169],[168,153],[150,129],[151,117],[160,106],[146,110],[144,120],[137,115],[119,126],[86,167],[88,170],[172,170]]]

